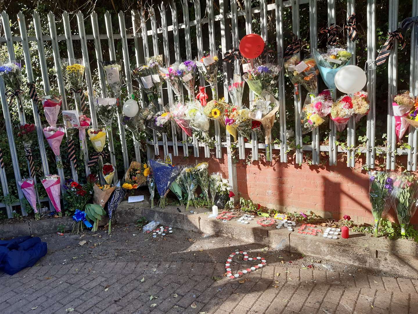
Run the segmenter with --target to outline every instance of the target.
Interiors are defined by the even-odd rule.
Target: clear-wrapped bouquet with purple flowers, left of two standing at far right
[[[369,198],[372,203],[372,214],[375,218],[374,235],[377,237],[380,219],[390,209],[390,198],[393,191],[393,178],[385,171],[369,171]]]

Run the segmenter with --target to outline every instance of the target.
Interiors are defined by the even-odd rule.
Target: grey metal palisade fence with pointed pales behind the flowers
[[[413,4],[412,16],[418,15],[418,0],[408,0]],[[243,5],[242,5],[243,4]],[[189,7],[193,5],[193,7]],[[64,12],[61,17],[54,17],[52,13],[48,16],[40,17],[37,12],[33,13],[30,18],[33,20],[33,27],[35,28],[35,36],[28,36],[28,29],[25,21],[26,19],[23,13],[19,13],[17,17],[12,17],[12,20],[17,18],[18,28],[20,35],[14,34],[13,36],[10,29],[10,17],[6,12],[1,14],[3,31],[4,33],[0,37],[0,44],[6,44],[8,48],[9,60],[15,59],[14,44],[18,43],[23,48],[24,63],[26,66],[26,75],[28,82],[34,80],[32,71],[32,59],[35,57],[30,53],[30,42],[36,42],[38,47],[38,57],[41,67],[41,75],[43,80],[43,89],[48,92],[51,82],[48,76],[48,67],[55,67],[56,69],[56,82],[60,93],[63,95],[62,108],[66,110],[69,108],[67,104],[66,94],[69,94],[69,90],[65,90],[64,78],[61,70],[61,58],[74,59],[75,57],[82,57],[85,68],[85,83],[87,88],[85,91],[88,93],[88,105],[89,114],[92,118],[92,126],[97,127],[97,114],[94,106],[94,83],[92,70],[90,66],[94,62],[89,60],[89,45],[94,44],[94,52],[97,61],[98,80],[101,87],[101,97],[106,98],[106,80],[104,72],[100,64],[106,59],[116,59],[116,48],[122,50],[123,61],[123,73],[124,81],[127,86],[127,93],[131,95],[133,93],[133,84],[130,69],[135,66],[143,64],[147,57],[163,54],[163,61],[168,66],[174,62],[181,62],[183,59],[192,59],[194,57],[201,58],[204,56],[204,51],[209,51],[211,54],[215,54],[218,50],[221,51],[222,57],[230,49],[238,49],[240,38],[238,36],[238,21],[245,20],[246,33],[252,33],[253,20],[260,20],[260,35],[267,42],[277,42],[277,57],[283,58],[285,50],[284,44],[284,8],[291,7],[291,30],[300,38],[300,16],[299,9],[303,6],[309,7],[309,39],[311,50],[317,48],[318,43],[318,10],[320,7],[327,9],[328,26],[336,23],[336,0],[288,0],[281,1],[276,0],[275,3],[268,4],[266,0],[260,0],[259,7],[252,8],[250,0],[240,1],[239,5],[235,0],[194,0],[193,3],[187,0],[181,1],[181,8],[177,8],[175,3],[171,3],[170,8],[166,8],[163,4],[158,7],[150,7],[144,11],[132,10],[130,15],[120,12],[117,15],[119,21],[118,25],[112,25],[112,16],[109,12],[106,12],[104,16],[98,16],[96,13],[91,13],[90,16],[84,16],[82,12],[76,13],[75,16],[70,16]],[[347,0],[347,17],[352,13],[355,13],[355,0]],[[389,11],[389,31],[394,31],[398,28],[398,7],[399,0],[390,0]],[[214,8],[217,12],[215,13]],[[194,12],[194,20],[191,20],[189,11]],[[157,19],[157,16],[159,18]],[[367,0],[367,92],[370,101],[370,111],[367,114],[367,145],[362,149],[362,153],[366,156],[366,163],[370,168],[375,167],[375,91],[376,91],[376,0]],[[268,17],[275,18],[275,38],[268,38]],[[48,19],[49,34],[42,33],[41,18]],[[77,27],[76,30],[72,30],[70,27],[70,18],[76,18]],[[57,33],[57,21],[62,23],[64,32]],[[179,20],[183,22],[180,23]],[[168,25],[168,21],[171,21],[171,25]],[[340,22],[340,21],[339,21]],[[92,29],[92,34],[86,34],[85,26],[89,24],[88,29]],[[31,24],[32,25],[32,24]],[[100,26],[105,26],[105,33],[100,33]],[[90,27],[91,26],[91,27]],[[60,28],[61,29],[61,28]],[[32,31],[32,30],[31,30]],[[184,42],[180,40],[182,36],[180,34],[184,32]],[[348,31],[347,31],[348,32]],[[416,95],[418,93],[418,81],[417,81],[417,69],[416,60],[418,59],[417,40],[413,34],[411,35],[411,61],[410,61],[410,90],[411,93]],[[33,32],[31,32],[33,33]],[[196,45],[195,51],[197,55],[192,55],[192,40],[191,33],[196,34],[196,40],[193,43]],[[220,35],[220,36],[219,36]],[[347,36],[348,37],[348,36]],[[60,51],[59,43],[61,41],[66,42],[66,51]],[[159,45],[162,41],[162,46]],[[48,42],[52,49],[52,55],[54,59],[54,65],[48,65],[46,59],[45,43]],[[89,44],[89,45],[88,45]],[[74,45],[79,48],[75,51]],[[185,45],[185,49],[181,49],[181,46]],[[355,51],[355,43],[347,39],[347,45],[351,51]],[[105,47],[105,48],[103,48]],[[108,51],[105,51],[108,49]],[[171,53],[171,51],[174,53]],[[132,54],[135,51],[135,55]],[[185,51],[185,55],[181,55],[181,51]],[[91,56],[91,54],[90,54]],[[354,64],[355,55],[352,57]],[[94,65],[94,64],[93,64]],[[234,74],[241,75],[242,68],[238,60],[234,62],[223,62],[222,76],[223,82],[219,82],[218,89],[223,90],[223,95],[226,101],[228,101],[228,82]],[[95,68],[96,66],[94,66]],[[408,167],[407,170],[417,170],[417,149],[418,149],[418,132],[416,129],[411,128],[408,136],[408,144],[410,149],[397,149],[396,136],[395,136],[395,120],[393,117],[393,111],[391,106],[391,99],[397,93],[397,44],[395,39],[393,52],[390,54],[388,62],[388,83],[389,83],[389,95],[388,95],[388,113],[387,113],[387,147],[382,149],[386,150],[387,169],[395,169],[395,159],[397,154],[408,155]],[[201,86],[205,85],[203,77],[200,77]],[[291,103],[285,102],[285,77],[284,72],[281,72],[278,78],[278,96],[280,97],[280,111],[279,111],[279,144],[270,145],[268,149],[273,152],[273,149],[278,150],[280,156],[280,162],[288,162],[288,142],[286,136],[286,106],[292,107]],[[38,86],[39,88],[39,86]],[[14,170],[15,180],[21,180],[20,165],[18,163],[18,154],[13,137],[13,126],[10,119],[10,111],[8,106],[8,99],[5,95],[5,84],[3,79],[0,79],[0,96],[3,108],[3,114],[5,118],[5,129],[7,131],[10,154],[12,156],[12,166]],[[343,147],[336,145],[336,126],[334,122],[329,122],[329,145],[320,144],[319,130],[314,129],[312,131],[312,144],[306,145],[303,143],[302,131],[301,131],[301,88],[295,88],[294,98],[294,113],[295,113],[295,142],[296,142],[296,154],[295,162],[301,163],[303,161],[303,152],[311,152],[312,163],[314,165],[320,164],[321,152],[328,153],[329,165],[336,165],[337,154],[339,152],[347,154],[347,166],[354,167],[354,147],[356,146],[356,121],[354,116],[350,119],[347,125],[347,145]],[[335,93],[334,93],[335,95]],[[194,97],[194,95],[189,95]],[[250,93],[250,101],[253,99],[252,93]],[[170,86],[165,88],[161,95],[163,100],[161,110],[163,106],[171,106],[175,101],[173,91]],[[122,99],[123,102],[123,99]],[[141,106],[144,104],[141,102]],[[38,147],[41,152],[42,172],[44,175],[50,173],[48,160],[46,156],[46,148],[43,140],[43,132],[41,126],[41,118],[38,113],[38,105],[35,101],[32,101],[33,117],[36,124],[36,132],[38,138]],[[23,111],[18,112],[19,120],[21,124],[26,121],[25,113]],[[125,129],[122,125],[121,117],[118,116],[118,126],[120,131],[120,138],[113,138],[113,134],[110,134],[108,141],[108,149],[110,152],[110,161],[115,165],[115,155],[122,154],[123,167],[125,170],[129,167],[131,160],[135,159],[140,161],[140,145],[134,138],[134,152],[127,151],[127,144],[125,138]],[[178,156],[179,146],[182,147],[182,152],[185,157],[189,156],[189,146],[192,147],[194,157],[216,157],[222,158],[222,148],[226,148],[228,172],[230,184],[233,187],[234,192],[237,192],[237,174],[236,168],[233,165],[231,138],[228,132],[219,126],[219,121],[215,121],[212,124],[214,128],[214,149],[211,150],[207,144],[199,143],[193,136],[191,143],[187,139],[187,135],[182,132],[178,134],[175,125],[171,125],[171,138],[168,138],[168,134],[158,134],[153,131],[152,139],[148,140],[147,155],[148,158],[153,158],[155,155],[160,154],[160,147],[163,148],[163,154],[167,155],[172,153],[174,156]],[[161,135],[161,137],[160,137]],[[161,138],[161,140],[159,140]],[[224,139],[226,139],[224,141]],[[116,152],[114,147],[114,141],[120,140],[121,152]],[[87,145],[85,146],[87,147]],[[3,153],[6,147],[3,148]],[[246,143],[242,136],[238,137],[238,158],[245,160],[245,149],[251,150],[252,160],[258,160],[259,149],[264,149],[263,143],[258,143],[257,136],[252,133],[252,141]],[[202,149],[202,151],[201,151]],[[201,152],[203,154],[201,155]],[[85,152],[86,168],[85,172],[89,174],[90,170],[87,166],[88,152]],[[1,157],[0,157],[1,158]],[[29,164],[28,164],[29,167]],[[71,162],[71,174],[74,180],[77,180],[77,172],[74,167],[74,163]],[[58,174],[61,177],[61,182],[64,182],[64,172],[62,169],[58,169]],[[5,175],[5,169],[0,167],[0,179],[3,188],[3,195],[9,194],[7,178]],[[117,180],[117,176],[115,177]],[[18,196],[23,199],[23,193],[18,188]],[[12,217],[12,207],[10,205],[3,204],[6,208],[9,217]],[[22,214],[26,215],[24,206],[21,206]]]

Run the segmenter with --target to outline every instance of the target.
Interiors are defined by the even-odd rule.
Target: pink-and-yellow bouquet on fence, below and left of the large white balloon
[[[328,94],[329,95],[329,94]],[[334,101],[328,95],[309,93],[301,111],[302,133],[306,134],[325,122]]]

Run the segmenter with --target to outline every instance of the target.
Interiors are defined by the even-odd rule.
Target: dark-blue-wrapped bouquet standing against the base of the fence
[[[166,206],[166,193],[170,189],[171,183],[176,180],[181,169],[178,166],[167,165],[163,161],[149,160],[149,163],[158,194],[160,195],[160,207],[164,208]]]

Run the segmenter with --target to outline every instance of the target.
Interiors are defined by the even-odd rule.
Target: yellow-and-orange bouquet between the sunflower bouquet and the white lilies
[[[245,138],[251,137],[252,122],[257,122],[260,126],[261,122],[252,121],[249,116],[250,110],[247,108],[240,108],[235,105],[229,105],[224,110],[225,127],[229,134],[234,136],[234,141],[237,140],[237,133]]]

